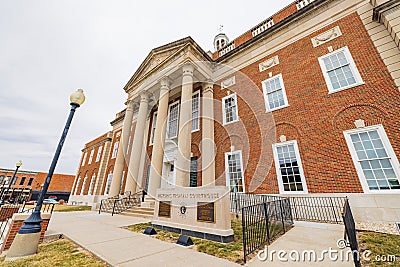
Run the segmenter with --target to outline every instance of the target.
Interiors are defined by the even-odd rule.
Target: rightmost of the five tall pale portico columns
[[[215,143],[214,143],[214,88],[212,82],[205,82],[202,98],[202,141],[201,165],[202,185],[215,185]]]

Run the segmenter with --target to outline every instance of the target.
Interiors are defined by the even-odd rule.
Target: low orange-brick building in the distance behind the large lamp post
[[[36,200],[47,177],[45,172],[18,170],[11,181],[15,170],[0,169],[0,198]],[[53,174],[46,197],[54,196],[58,200],[68,201],[74,175]]]

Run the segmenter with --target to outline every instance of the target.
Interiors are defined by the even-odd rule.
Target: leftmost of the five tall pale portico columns
[[[125,167],[125,152],[128,146],[129,135],[131,134],[132,117],[133,102],[130,101],[125,111],[121,139],[119,140],[117,158],[114,165],[113,178],[111,181],[110,191],[108,192],[110,197],[118,195],[121,188],[122,172]]]

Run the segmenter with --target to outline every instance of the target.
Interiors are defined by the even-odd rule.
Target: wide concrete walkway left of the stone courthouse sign
[[[148,221],[97,212],[55,212],[46,235],[62,233],[112,266],[240,266],[120,228]]]

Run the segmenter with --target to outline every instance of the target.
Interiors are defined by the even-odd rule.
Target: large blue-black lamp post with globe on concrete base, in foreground
[[[49,173],[47,174],[42,191],[39,195],[39,199],[36,203],[35,210],[29,216],[29,218],[24,221],[24,225],[22,225],[22,227],[19,229],[18,234],[14,239],[14,242],[12,243],[7,253],[7,258],[32,255],[35,254],[37,251],[40,232],[42,229],[40,225],[40,223],[42,222],[40,210],[42,208],[43,200],[46,195],[47,189],[49,188],[50,181],[53,176],[54,169],[57,165],[58,158],[60,157],[61,149],[64,145],[64,141],[67,136],[69,127],[71,125],[72,118],[74,117],[75,110],[78,107],[80,107],[84,101],[85,101],[85,95],[83,94],[82,89],[78,89],[70,96],[71,111],[69,113],[67,122],[64,127],[64,131],[58,143],[56,153],[54,154],[53,161],[51,162]]]

